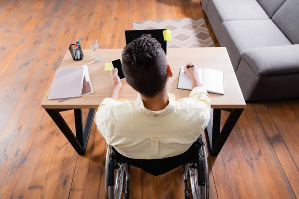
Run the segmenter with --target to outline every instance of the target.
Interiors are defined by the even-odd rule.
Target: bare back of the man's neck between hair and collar
[[[153,111],[163,110],[169,103],[167,90],[164,89],[158,93],[154,98],[148,98],[141,95],[144,106]]]

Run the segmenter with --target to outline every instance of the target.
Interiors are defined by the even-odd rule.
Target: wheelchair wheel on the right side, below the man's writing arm
[[[208,158],[207,150],[202,138],[200,135],[200,141],[202,142],[202,147],[199,150],[199,158],[203,163],[203,174],[204,175],[204,184],[199,185],[199,176],[197,169],[192,167],[189,168],[189,176],[191,183],[191,192],[193,199],[209,199],[209,169],[208,169]]]

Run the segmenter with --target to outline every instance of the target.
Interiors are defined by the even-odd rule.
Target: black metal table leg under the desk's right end
[[[243,112],[243,108],[234,108],[234,109],[223,109],[229,111],[230,114],[220,131],[220,118],[221,118],[221,109],[214,108],[213,110],[213,121],[210,120],[206,128],[209,142],[211,155],[217,156],[222,149],[225,141],[227,140],[229,134],[233,130],[235,124],[237,123],[239,117]]]

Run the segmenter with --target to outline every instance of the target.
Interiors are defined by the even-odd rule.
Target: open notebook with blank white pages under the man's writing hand
[[[185,74],[184,67],[180,68],[177,88],[192,90],[191,79]],[[214,69],[197,69],[198,78],[202,86],[209,93],[224,95],[223,72]]]

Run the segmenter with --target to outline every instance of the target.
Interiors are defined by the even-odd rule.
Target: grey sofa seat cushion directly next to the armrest
[[[218,41],[227,48],[235,71],[245,50],[292,44],[271,19],[226,21],[223,27]]]

